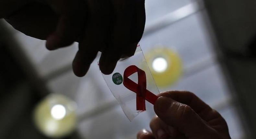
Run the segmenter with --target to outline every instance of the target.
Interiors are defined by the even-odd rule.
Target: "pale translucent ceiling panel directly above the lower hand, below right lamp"
[[[182,78],[176,85],[166,90],[188,90],[195,93],[200,99],[213,106],[216,102],[229,97],[218,65],[213,65],[201,72]]]

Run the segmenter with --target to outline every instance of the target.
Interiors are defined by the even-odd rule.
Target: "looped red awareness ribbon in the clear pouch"
[[[128,77],[138,72],[138,84],[129,79]],[[139,69],[135,65],[129,66],[123,73],[123,85],[136,93],[136,106],[138,111],[145,111],[145,100],[151,104],[155,104],[157,96],[146,89],[146,74],[145,71]]]

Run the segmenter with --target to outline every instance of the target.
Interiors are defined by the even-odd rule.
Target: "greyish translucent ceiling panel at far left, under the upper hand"
[[[45,76],[68,64],[71,66],[78,50],[77,43],[74,43],[70,47],[49,51],[45,47],[45,40],[29,37],[21,32],[15,33],[14,37],[17,38],[17,41],[21,44],[24,52],[41,76]]]

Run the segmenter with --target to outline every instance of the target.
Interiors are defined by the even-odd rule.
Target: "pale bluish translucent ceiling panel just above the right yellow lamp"
[[[200,18],[200,13],[197,13],[144,36],[140,42],[141,48],[144,53],[158,46],[172,48],[179,53],[184,66],[212,55],[212,44]]]

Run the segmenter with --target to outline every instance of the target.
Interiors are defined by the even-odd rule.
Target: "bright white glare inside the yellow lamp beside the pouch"
[[[164,58],[156,58],[152,63],[153,69],[157,72],[164,72],[167,69],[167,61]]]

